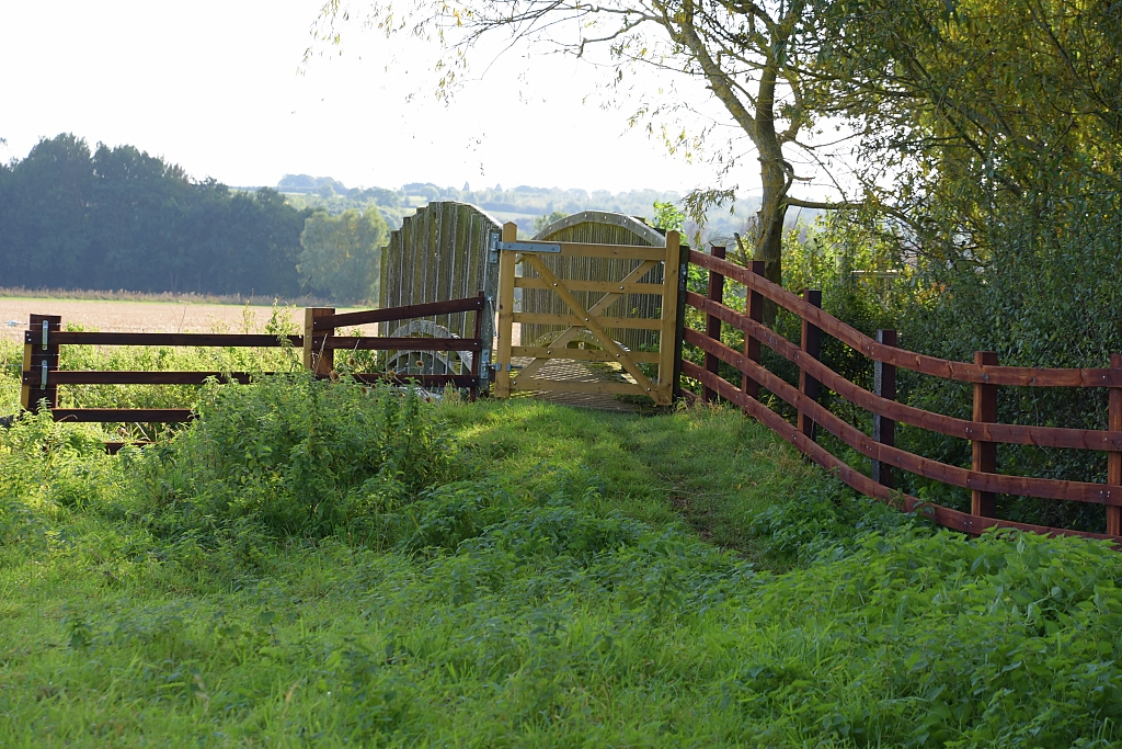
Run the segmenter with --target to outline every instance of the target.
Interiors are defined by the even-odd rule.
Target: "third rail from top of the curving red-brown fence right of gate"
[[[692,334],[690,342],[699,348],[712,350],[721,360],[732,364],[738,369],[747,369],[753,377],[758,380],[764,387],[778,398],[799,411],[806,411],[826,431],[866,457],[891,463],[898,468],[910,473],[963,488],[993,492],[995,494],[1014,494],[1018,496],[1038,496],[1092,504],[1122,505],[1122,488],[1116,486],[1112,487],[1106,484],[1086,482],[1056,481],[1052,478],[1003,476],[994,473],[967,471],[958,466],[930,460],[896,447],[879,445],[859,429],[846,423],[827,409],[811,401],[779,376],[753,362],[748,362],[741,351],[734,350],[718,341],[710,340],[696,330],[687,330],[687,335],[689,334]],[[710,377],[712,376],[711,373],[706,374]]]

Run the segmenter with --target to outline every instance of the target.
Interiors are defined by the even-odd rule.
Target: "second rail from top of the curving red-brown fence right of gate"
[[[1010,442],[1017,445],[1036,445],[1038,447],[1063,447],[1087,450],[1122,450],[1122,431],[1098,431],[1093,429],[1061,429],[1056,427],[1031,427],[1021,424],[976,423],[965,419],[955,419],[931,411],[917,409],[904,403],[896,403],[877,398],[835,373],[820,362],[810,359],[802,350],[770,328],[753,321],[733,309],[711,305],[700,294],[687,293],[688,302],[706,313],[719,314],[721,320],[743,330],[746,336],[761,341],[780,356],[793,362],[810,372],[826,387],[842,398],[874,414],[919,427],[928,431],[937,431],[962,439],[985,439],[991,442]],[[697,331],[695,331],[697,332]]]

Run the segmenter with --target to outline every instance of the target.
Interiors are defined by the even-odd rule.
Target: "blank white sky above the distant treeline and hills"
[[[557,55],[503,56],[445,107],[424,85],[435,49],[353,25],[342,57],[298,75],[320,4],[3,0],[0,159],[73,133],[231,185],[306,173],[347,186],[717,186],[714,167],[628,131],[628,108],[582,103],[607,73]],[[657,91],[653,77],[638,83]],[[755,159],[744,163],[725,180],[742,195],[758,181]]]

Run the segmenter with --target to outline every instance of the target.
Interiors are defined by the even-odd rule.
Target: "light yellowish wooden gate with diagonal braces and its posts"
[[[678,318],[678,286],[680,280],[680,248],[677,231],[666,234],[665,246],[598,245],[581,243],[516,241],[517,227],[503,226],[503,240],[498,243],[498,354],[496,356],[495,395],[507,398],[512,391],[553,391],[569,393],[606,393],[649,395],[659,405],[669,405],[673,396],[674,331]],[[560,265],[555,258],[609,258],[624,261],[620,277],[613,280],[588,277],[559,277]],[[516,267],[524,274],[518,276]],[[644,283],[643,278],[665,264],[660,283]],[[588,263],[564,263],[571,276],[581,273]],[[536,289],[552,291],[568,309],[567,313],[542,314],[515,310],[515,290]],[[628,308],[628,296],[655,295],[661,304],[653,317],[629,314],[638,305]],[[617,302],[622,302],[618,303]],[[618,310],[608,317],[609,308]],[[530,341],[532,345],[513,344],[514,323],[567,326],[550,341]],[[611,331],[640,329],[657,331],[656,350],[633,351],[622,346]],[[580,348],[573,348],[583,338]],[[525,344],[527,341],[519,341]],[[532,360],[517,373],[513,359]],[[600,362],[618,364],[629,381],[570,382],[539,375],[551,360]],[[640,365],[649,366],[646,372]]]

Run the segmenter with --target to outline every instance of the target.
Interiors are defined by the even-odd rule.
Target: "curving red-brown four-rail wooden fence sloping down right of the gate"
[[[949,362],[896,348],[895,331],[881,331],[874,340],[819,309],[820,294],[806,292],[802,298],[770,283],[763,277],[763,264],[752,268],[721,258],[721,253],[705,255],[690,252],[690,263],[710,273],[708,298],[687,292],[686,303],[706,314],[706,331],[684,328],[683,340],[706,354],[705,366],[683,360],[681,373],[699,381],[707,399],[714,395],[739,405],[773,431],[794,445],[811,460],[833,471],[858,492],[884,501],[899,502],[905,510],[919,509],[936,522],[957,530],[978,533],[992,527],[1019,528],[1055,535],[1078,535],[1122,541],[1122,355],[1114,355],[1109,368],[1047,369],[999,366],[996,355],[978,351],[974,363]],[[725,305],[721,300],[724,278],[747,289],[747,314]],[[795,345],[763,325],[763,300],[775,302],[802,320],[801,345]],[[721,325],[744,332],[745,349],[730,348],[720,341]],[[870,392],[837,374],[818,360],[820,334],[834,336],[850,348],[874,360],[879,392]],[[761,365],[760,345],[766,346],[799,367],[795,387]],[[718,375],[717,363],[724,362],[742,373],[739,384]],[[895,398],[895,367],[926,375],[974,384],[974,413],[971,421],[932,413],[903,403]],[[865,435],[818,403],[818,386],[834,391],[854,405],[872,412],[873,436]],[[1109,387],[1109,430],[1058,429],[995,423],[997,386]],[[758,399],[766,389],[798,413],[791,424]],[[931,460],[894,445],[894,424],[901,422],[951,437],[968,439],[973,447],[969,469]],[[871,458],[873,476],[855,471],[818,445],[816,429],[821,428],[850,448]],[[997,473],[996,444],[1036,445],[1101,450],[1107,454],[1106,483],[1057,481],[1006,476]],[[969,513],[896,492],[892,469],[923,476],[972,491]],[[996,494],[1045,497],[1070,502],[1106,505],[1105,533],[1091,533],[1063,528],[1048,528],[1002,520],[995,514]]]

